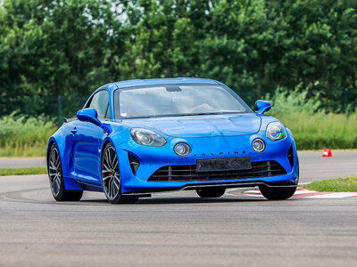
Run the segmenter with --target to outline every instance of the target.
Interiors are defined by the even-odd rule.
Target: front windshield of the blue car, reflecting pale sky
[[[252,112],[220,85],[153,85],[116,90],[116,118]]]

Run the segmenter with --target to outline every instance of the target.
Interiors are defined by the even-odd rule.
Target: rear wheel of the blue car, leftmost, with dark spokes
[[[47,158],[48,178],[50,189],[57,201],[79,201],[82,198],[82,190],[66,190],[62,174],[61,157],[55,143],[52,144]]]

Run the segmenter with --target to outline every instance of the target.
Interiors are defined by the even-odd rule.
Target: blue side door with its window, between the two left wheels
[[[94,108],[98,119],[104,122],[109,115],[109,93],[103,89],[95,93],[86,108]],[[104,129],[90,122],[76,121],[74,134],[74,171],[79,182],[100,185],[100,148]]]

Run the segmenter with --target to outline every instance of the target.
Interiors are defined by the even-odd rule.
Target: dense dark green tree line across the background
[[[306,89],[338,111],[343,90],[357,90],[356,8],[355,0],[3,0],[0,98],[207,77],[248,99]]]

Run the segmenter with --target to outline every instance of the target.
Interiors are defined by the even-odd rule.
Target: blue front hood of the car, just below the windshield
[[[131,127],[150,128],[173,137],[237,136],[255,134],[262,118],[255,113],[221,114],[183,117],[126,119]]]

